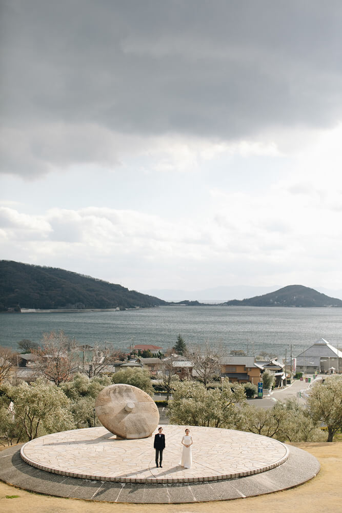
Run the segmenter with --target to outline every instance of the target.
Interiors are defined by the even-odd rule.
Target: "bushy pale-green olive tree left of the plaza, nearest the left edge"
[[[70,412],[71,402],[55,385],[39,378],[28,385],[6,385],[2,400],[13,403],[14,418],[21,424],[27,440],[75,427]]]

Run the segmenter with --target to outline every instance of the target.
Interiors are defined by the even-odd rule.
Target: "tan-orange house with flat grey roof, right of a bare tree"
[[[263,368],[254,362],[254,356],[226,356],[220,359],[220,375],[231,383],[257,383]]]

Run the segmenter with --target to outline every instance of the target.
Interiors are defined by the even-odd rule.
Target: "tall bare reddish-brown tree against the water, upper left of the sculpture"
[[[42,348],[36,354],[36,367],[46,379],[57,386],[72,379],[72,372],[77,369],[78,353],[75,340],[64,331],[44,333]]]

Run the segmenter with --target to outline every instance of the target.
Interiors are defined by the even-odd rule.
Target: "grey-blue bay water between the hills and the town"
[[[0,346],[39,342],[43,332],[63,330],[79,344],[128,349],[133,344],[174,345],[178,333],[188,345],[222,344],[249,354],[279,357],[303,351],[323,337],[342,347],[342,308],[170,306],[126,311],[17,313],[0,315]]]

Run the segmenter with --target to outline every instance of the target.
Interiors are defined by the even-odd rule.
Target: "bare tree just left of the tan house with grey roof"
[[[192,363],[195,376],[207,383],[220,374],[220,359],[223,356],[223,348],[205,342],[185,351],[185,356]],[[191,376],[189,376],[191,378]]]

